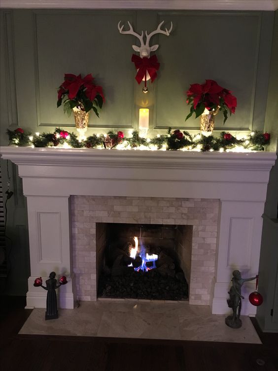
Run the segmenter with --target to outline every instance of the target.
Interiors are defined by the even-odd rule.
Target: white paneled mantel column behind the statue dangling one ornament
[[[213,314],[230,314],[227,306],[228,291],[232,285],[232,272],[240,270],[243,278],[255,277],[259,269],[264,202],[221,200],[218,223],[218,256],[212,301]],[[248,296],[255,291],[256,282],[243,284],[243,315],[254,316],[256,307]]]

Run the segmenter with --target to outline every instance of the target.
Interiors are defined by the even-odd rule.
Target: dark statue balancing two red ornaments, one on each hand
[[[67,277],[62,276],[59,278],[59,285],[57,285],[57,280],[55,279],[56,273],[51,272],[49,275],[49,279],[45,281],[46,287],[42,286],[42,279],[41,277],[36,278],[34,282],[35,287],[42,287],[43,289],[47,290],[47,297],[46,297],[46,312],[45,312],[45,319],[46,320],[54,320],[58,318],[58,307],[57,307],[57,295],[56,289],[58,289],[62,285],[66,285],[68,283]]]

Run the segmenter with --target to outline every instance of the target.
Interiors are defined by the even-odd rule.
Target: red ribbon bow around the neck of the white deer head
[[[146,81],[147,72],[150,75],[151,82],[155,80],[155,78],[157,77],[156,71],[159,70],[160,66],[155,54],[149,58],[140,58],[138,55],[132,54],[131,61],[134,62],[135,67],[138,69],[137,75],[135,77],[138,83],[140,83],[143,78],[145,78]]]

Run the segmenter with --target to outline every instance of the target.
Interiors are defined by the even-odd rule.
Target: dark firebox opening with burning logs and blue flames
[[[96,225],[99,297],[188,299],[192,226]]]

